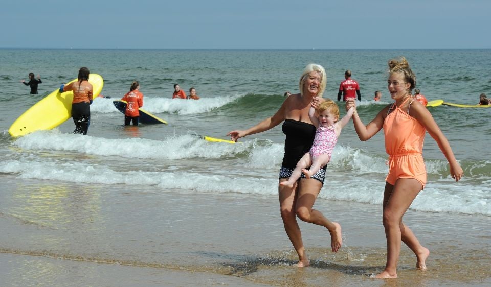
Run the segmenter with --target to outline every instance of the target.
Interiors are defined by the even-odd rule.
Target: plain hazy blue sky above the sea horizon
[[[0,48],[489,49],[489,0],[4,0]]]

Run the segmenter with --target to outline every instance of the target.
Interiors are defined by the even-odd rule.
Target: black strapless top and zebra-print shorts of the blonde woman
[[[281,129],[286,135],[286,138],[285,155],[283,157],[283,162],[281,163],[280,178],[287,178],[290,177],[297,162],[305,153],[308,153],[312,147],[316,135],[316,127],[312,124],[296,121],[294,119],[285,119]],[[315,175],[311,176],[311,178],[324,183],[325,172],[326,166],[320,169]],[[305,175],[302,173],[300,178],[305,178]]]

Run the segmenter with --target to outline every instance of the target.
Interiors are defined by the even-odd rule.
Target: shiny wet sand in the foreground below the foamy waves
[[[299,269],[273,196],[20,182],[0,194],[4,285],[491,285],[487,216],[409,210],[429,270],[403,245],[400,278],[375,280],[386,260],[378,205],[318,200],[343,246],[332,253],[327,230],[300,222],[311,266]]]

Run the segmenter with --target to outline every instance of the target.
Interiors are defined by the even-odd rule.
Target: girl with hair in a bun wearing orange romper
[[[422,156],[423,141],[428,134],[437,142],[450,165],[450,176],[459,181],[462,168],[455,159],[447,138],[435,123],[424,105],[411,97],[416,86],[416,75],[406,58],[388,61],[388,89],[394,100],[377,113],[365,126],[355,111],[353,124],[360,140],[370,139],[384,129],[385,150],[389,154],[389,173],[386,177],[382,223],[387,240],[387,261],[385,269],[373,278],[396,278],[400,242],[403,241],[416,255],[416,268],[426,270],[426,259],[430,251],[423,247],[418,238],[403,222],[403,216],[411,203],[425,188],[427,174]],[[355,107],[354,99],[346,102],[346,110]]]

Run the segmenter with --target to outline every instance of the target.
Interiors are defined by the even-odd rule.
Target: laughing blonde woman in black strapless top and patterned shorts
[[[326,88],[326,82],[327,77],[324,68],[321,65],[308,64],[300,77],[300,93],[286,97],[273,116],[247,130],[234,130],[227,135],[230,135],[231,140],[237,141],[241,137],[267,131],[283,123],[282,130],[286,138],[279,182],[287,181],[297,162],[305,153],[308,153],[314,142],[316,127],[311,122],[308,112],[310,103],[315,97],[319,97],[319,101],[324,102],[321,97]],[[310,179],[302,174],[293,186],[278,185],[281,219],[286,234],[298,254],[299,261],[296,264],[298,267],[309,266],[310,262],[302,242],[297,217],[302,221],[327,228],[331,235],[333,252],[338,252],[342,244],[341,226],[336,222],[329,221],[319,210],[312,208],[324,183],[325,172],[326,167],[324,166]]]

